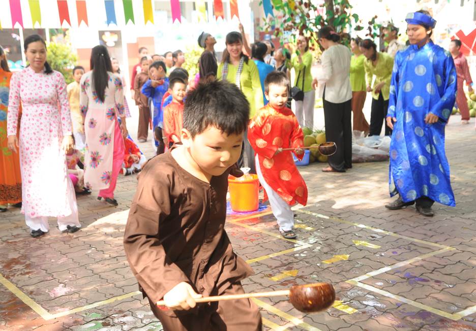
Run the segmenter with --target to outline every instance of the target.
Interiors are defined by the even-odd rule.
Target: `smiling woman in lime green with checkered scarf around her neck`
[[[226,79],[241,89],[250,103],[250,118],[252,118],[256,111],[264,106],[258,68],[255,62],[250,61],[243,53],[243,38],[240,32],[233,31],[226,35],[225,44],[226,49],[218,66],[217,79]],[[245,137],[248,137],[248,132],[245,133]],[[250,173],[256,174],[254,151],[247,138],[244,141],[244,151],[242,150],[238,160],[240,167],[245,166],[244,153],[247,167],[251,168]]]

